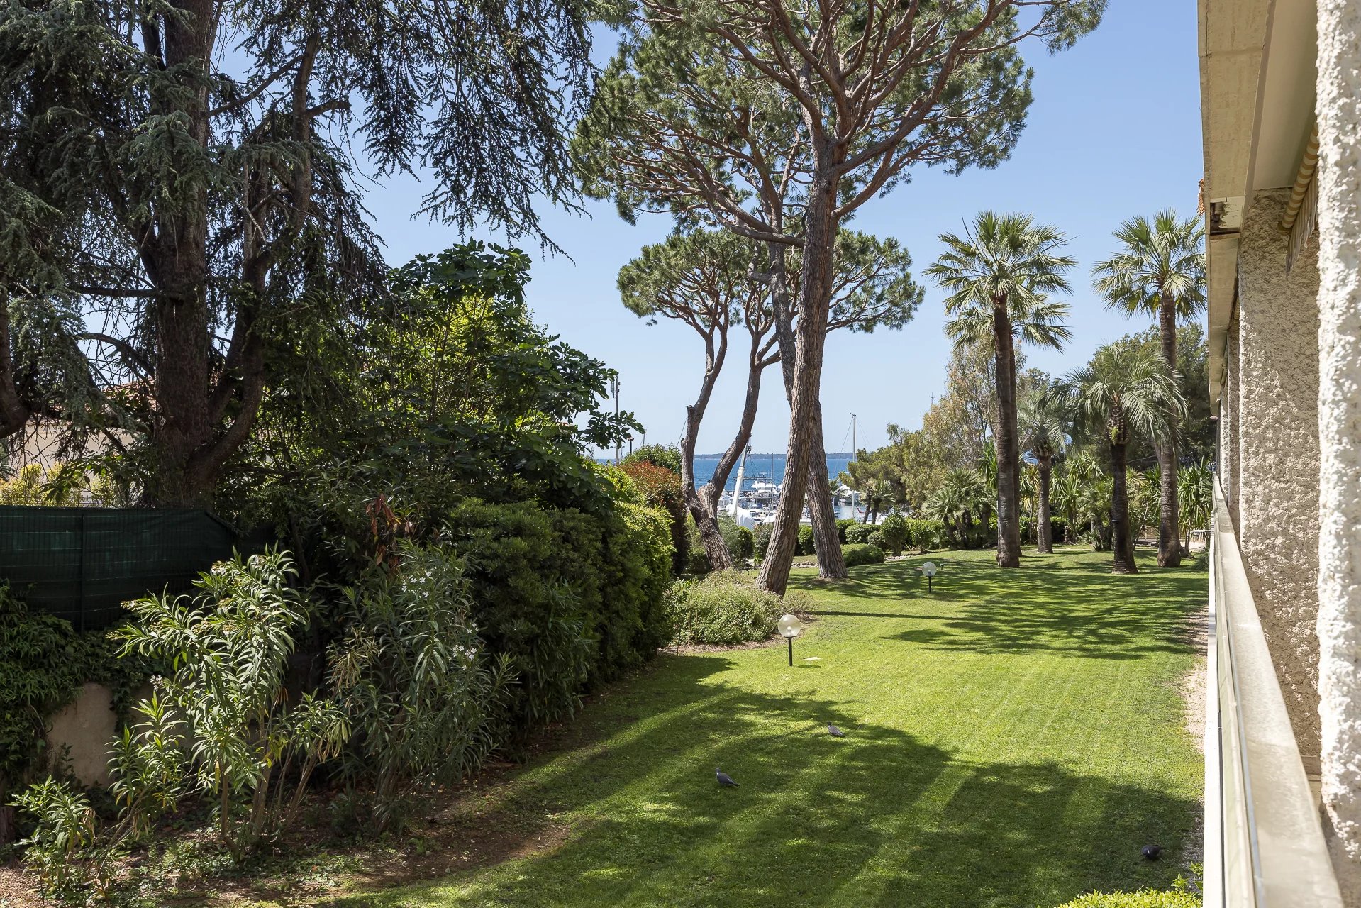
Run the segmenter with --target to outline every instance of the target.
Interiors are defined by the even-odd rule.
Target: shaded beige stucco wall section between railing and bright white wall
[[[1239,543],[1305,769],[1319,766],[1319,271],[1285,271],[1288,189],[1259,192],[1239,246]]]

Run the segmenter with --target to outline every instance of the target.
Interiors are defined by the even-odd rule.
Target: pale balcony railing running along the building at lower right
[[[1206,647],[1206,908],[1341,908],[1319,809],[1219,483]]]

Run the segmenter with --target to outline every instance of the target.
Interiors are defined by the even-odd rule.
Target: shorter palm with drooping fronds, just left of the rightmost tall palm
[[[1111,445],[1112,573],[1138,570],[1130,531],[1126,445],[1131,433],[1165,440],[1169,426],[1185,415],[1185,400],[1173,376],[1157,354],[1117,342],[1097,350],[1090,363],[1064,376],[1056,389],[1070,400],[1077,422],[1087,432],[1100,427]]]

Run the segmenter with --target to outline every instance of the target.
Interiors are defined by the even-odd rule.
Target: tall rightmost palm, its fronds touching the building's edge
[[[1204,312],[1204,230],[1199,218],[1179,221],[1177,212],[1160,211],[1149,223],[1142,215],[1115,231],[1120,250],[1093,268],[1094,287],[1106,306],[1127,314],[1158,319],[1162,361],[1177,368],[1177,323]],[[1177,437],[1180,421],[1157,444],[1161,474],[1158,519],[1158,566],[1181,564],[1177,515]]]

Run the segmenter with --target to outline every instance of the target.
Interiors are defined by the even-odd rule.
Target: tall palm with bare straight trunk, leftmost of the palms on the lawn
[[[958,237],[940,236],[946,252],[927,272],[951,291],[945,301],[946,334],[957,347],[988,343],[994,353],[998,448],[998,564],[1021,565],[1021,455],[1017,447],[1015,342],[1063,348],[1066,304],[1048,294],[1070,290],[1077,260],[1057,253],[1066,238],[1029,215],[984,211]]]

